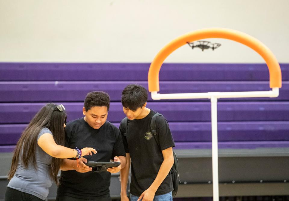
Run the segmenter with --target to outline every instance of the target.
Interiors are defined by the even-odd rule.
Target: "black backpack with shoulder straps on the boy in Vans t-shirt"
[[[159,145],[158,137],[157,137],[157,123],[156,123],[156,118],[157,116],[162,116],[160,113],[154,114],[154,116],[151,118],[151,131],[154,134],[154,137],[156,139],[157,144]],[[164,118],[166,119],[166,118]],[[167,120],[166,120],[167,121]],[[126,126],[127,126],[127,117],[124,118],[121,121],[121,127],[122,127],[122,132],[123,136],[126,137]],[[160,147],[160,145],[159,145]],[[171,176],[172,176],[172,186],[174,187],[174,190],[172,191],[172,197],[174,198],[178,192],[179,189],[179,184],[181,183],[180,176],[179,176],[179,160],[177,157],[177,154],[172,151],[174,154],[174,164],[172,165],[172,168],[170,170]]]

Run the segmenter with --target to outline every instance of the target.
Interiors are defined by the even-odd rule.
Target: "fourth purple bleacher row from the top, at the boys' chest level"
[[[117,127],[119,123],[114,123]],[[14,145],[27,124],[0,125],[0,145]],[[211,142],[211,122],[170,122],[175,142]],[[289,121],[219,122],[219,142],[289,141]]]

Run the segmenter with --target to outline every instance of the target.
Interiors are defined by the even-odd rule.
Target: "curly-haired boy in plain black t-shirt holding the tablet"
[[[80,158],[78,165],[76,160],[64,160],[61,164],[62,171],[56,201],[111,201],[110,175],[119,172],[126,165],[126,154],[120,130],[106,120],[109,103],[110,98],[107,93],[90,92],[84,101],[85,117],[66,124],[66,147],[82,149],[91,145],[96,149],[97,154]],[[121,165],[108,168],[106,172],[91,172],[92,168],[85,165],[87,161],[110,161],[111,159],[119,161]]]

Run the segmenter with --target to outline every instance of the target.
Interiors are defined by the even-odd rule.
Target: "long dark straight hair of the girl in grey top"
[[[48,128],[52,132],[56,144],[64,146],[64,123],[66,123],[66,117],[67,114],[65,110],[60,111],[57,108],[57,105],[53,103],[48,103],[37,112],[17,142],[12,158],[11,169],[8,173],[8,179],[11,179],[14,176],[19,160],[26,168],[28,168],[28,164],[32,162],[34,168],[37,169],[35,150],[37,137],[41,129],[45,127]],[[21,152],[23,154],[21,154]],[[52,157],[50,176],[57,185],[57,174],[62,161],[63,159]]]

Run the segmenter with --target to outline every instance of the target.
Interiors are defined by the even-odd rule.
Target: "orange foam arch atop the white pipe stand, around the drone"
[[[187,42],[197,41],[204,38],[225,38],[237,41],[252,48],[263,57],[268,66],[270,88],[281,88],[280,65],[276,57],[271,52],[271,50],[269,50],[268,47],[266,47],[256,38],[253,38],[252,36],[243,32],[224,28],[210,28],[199,29],[194,32],[182,35],[171,41],[165,47],[163,47],[163,49],[161,49],[159,53],[157,53],[157,56],[155,56],[148,71],[148,90],[150,92],[160,91],[159,72],[161,65],[163,64],[163,61],[166,59],[166,57],[168,57],[173,51],[175,51],[182,45],[187,44]]]

